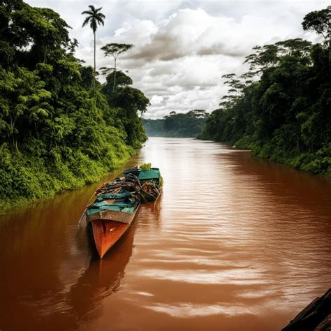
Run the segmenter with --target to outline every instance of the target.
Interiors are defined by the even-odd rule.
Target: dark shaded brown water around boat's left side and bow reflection
[[[70,330],[101,314],[131,257],[135,221],[103,260],[78,219],[100,182],[0,216],[0,330]],[[99,312],[98,312],[99,311]]]

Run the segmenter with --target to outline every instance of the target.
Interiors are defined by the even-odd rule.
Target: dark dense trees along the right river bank
[[[325,42],[292,39],[255,47],[248,73],[224,75],[230,85],[199,138],[248,147],[255,156],[331,175],[330,7],[302,26]]]

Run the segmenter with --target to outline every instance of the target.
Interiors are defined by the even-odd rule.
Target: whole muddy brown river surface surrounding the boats
[[[184,138],[143,161],[162,196],[103,260],[77,226],[100,183],[0,216],[1,331],[280,330],[331,286],[330,181]]]

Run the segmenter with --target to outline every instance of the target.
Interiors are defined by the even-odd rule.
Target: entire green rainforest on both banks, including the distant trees
[[[110,66],[96,70],[100,10],[82,13],[82,26],[94,36],[92,67],[75,56],[79,42],[54,10],[0,1],[1,211],[96,182],[147,135],[230,142],[253,156],[331,176],[330,8],[302,22],[319,43],[294,38],[256,46],[243,64],[246,73],[223,74],[228,94],[218,109],[163,119],[142,119],[149,99],[117,68],[134,45],[98,47]]]

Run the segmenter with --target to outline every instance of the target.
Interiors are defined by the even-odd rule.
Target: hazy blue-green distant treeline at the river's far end
[[[207,119],[205,110],[191,110],[186,114],[170,112],[163,119],[143,119],[149,137],[196,137],[203,131]]]

